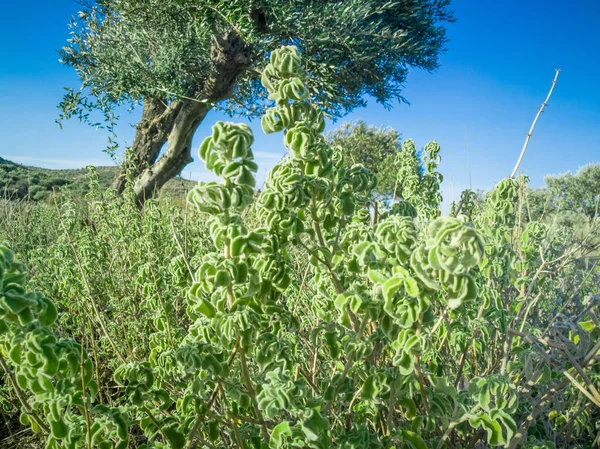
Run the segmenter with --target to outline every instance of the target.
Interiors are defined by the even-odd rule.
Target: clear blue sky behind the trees
[[[408,78],[404,93],[411,105],[387,111],[370,101],[342,121],[392,126],[419,147],[440,142],[448,201],[450,177],[456,196],[469,186],[466,140],[474,188],[488,189],[510,174],[554,69],[562,68],[522,169],[538,186],[546,174],[600,162],[600,1],[454,0],[453,8],[458,20],[448,27],[450,42],[440,69],[413,71]],[[61,131],[54,123],[63,87],[78,86],[56,53],[68,37],[67,23],[77,3],[30,0],[8,2],[2,9],[0,156],[50,168],[110,164],[102,152],[105,131],[75,120]],[[137,117],[122,117],[123,145],[131,143]],[[195,148],[221,118],[208,116]],[[262,134],[258,121],[252,126]],[[263,176],[284,153],[280,139],[257,139]],[[197,159],[184,170],[186,177],[206,177]]]

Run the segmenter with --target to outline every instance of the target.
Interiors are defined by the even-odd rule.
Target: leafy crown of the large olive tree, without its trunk
[[[437,67],[446,42],[443,26],[453,20],[448,4],[95,2],[73,20],[71,39],[61,50],[62,61],[77,70],[83,87],[81,92],[70,90],[61,106],[65,116],[75,114],[94,123],[89,115],[94,108],[112,121],[116,117],[110,110],[118,103],[177,96],[205,99],[203,85],[219,63],[213,50],[219,39],[232,35],[256,65],[242,71],[229,110],[256,114],[260,109],[255,100],[264,91],[256,69],[262,70],[265,57],[283,42],[294,42],[309,56],[313,77],[306,87],[328,111],[339,114],[363,104],[365,94],[388,104],[401,98],[408,66]]]

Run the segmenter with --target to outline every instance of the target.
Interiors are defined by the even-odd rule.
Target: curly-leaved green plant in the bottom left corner
[[[9,377],[20,392],[21,423],[43,432],[48,449],[127,448],[127,413],[93,406],[98,384],[91,360],[80,344],[56,336],[56,307],[27,291],[26,278],[23,264],[0,246],[0,358],[5,370],[11,370],[9,363],[13,367]]]

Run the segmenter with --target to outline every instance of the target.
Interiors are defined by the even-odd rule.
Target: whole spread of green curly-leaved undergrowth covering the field
[[[592,448],[598,214],[530,214],[519,177],[441,216],[439,145],[419,168],[408,140],[377,203],[307,77],[295,47],[265,68],[289,156],[261,192],[251,131],[217,123],[189,209],[93,171],[85,202],[5,204],[5,409],[53,449]]]

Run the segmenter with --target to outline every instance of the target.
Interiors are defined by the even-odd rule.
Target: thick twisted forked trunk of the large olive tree
[[[211,75],[199,81],[200,100],[148,99],[136,127],[133,145],[113,181],[112,188],[123,192],[127,178],[133,181],[138,204],[155,196],[163,185],[181,173],[193,159],[194,133],[212,104],[231,95],[237,77],[250,67],[250,49],[235,31],[215,34],[211,46]],[[163,146],[164,154],[159,158]],[[158,159],[158,160],[157,160]]]

